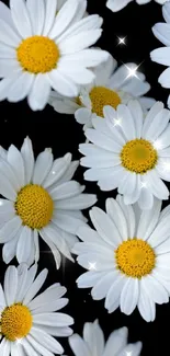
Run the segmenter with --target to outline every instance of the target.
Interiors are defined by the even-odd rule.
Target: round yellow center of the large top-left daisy
[[[16,48],[18,60],[31,73],[46,73],[56,68],[59,49],[54,41],[44,36],[32,36]]]

